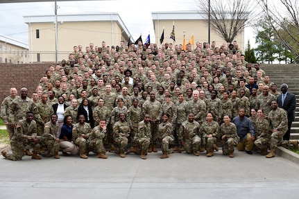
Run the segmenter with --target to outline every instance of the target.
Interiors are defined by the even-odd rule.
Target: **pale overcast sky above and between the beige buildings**
[[[67,13],[118,12],[134,40],[142,33],[146,40],[148,33],[154,42],[151,12],[200,10],[194,0],[110,0],[110,1],[58,1],[58,15]],[[28,43],[26,15],[54,15],[54,1],[40,3],[0,3],[0,34]],[[166,35],[170,33],[165,33]],[[246,28],[245,41],[254,45],[254,35]]]

